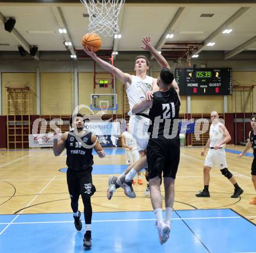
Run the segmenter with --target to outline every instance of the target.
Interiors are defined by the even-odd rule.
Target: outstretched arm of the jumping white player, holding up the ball
[[[84,48],[84,52],[87,53],[88,56],[91,56],[91,58],[93,58],[93,60],[95,60],[95,62],[97,62],[99,64],[99,66],[101,66],[102,68],[104,68],[104,70],[110,72],[111,74],[113,74],[115,77],[117,77],[118,79],[120,79],[120,81],[125,84],[126,89],[129,88],[130,84],[131,84],[131,75],[124,73],[122,70],[119,70],[119,68],[116,68],[115,66],[105,62],[105,60],[100,59],[94,52],[93,52],[93,48],[91,48],[91,50],[88,50],[88,48]]]

